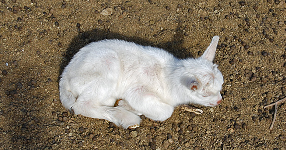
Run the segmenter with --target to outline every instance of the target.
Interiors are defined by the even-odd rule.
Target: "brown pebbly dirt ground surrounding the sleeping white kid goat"
[[[107,9],[106,9],[107,8]],[[119,38],[198,57],[212,36],[223,101],[122,129],[71,115],[59,100],[63,68],[80,47]],[[0,149],[286,149],[283,0],[1,0]]]

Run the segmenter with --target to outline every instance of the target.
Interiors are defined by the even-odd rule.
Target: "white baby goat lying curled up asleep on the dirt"
[[[163,121],[180,104],[218,105],[223,76],[212,63],[218,40],[214,36],[197,59],[178,59],[160,48],[117,39],[92,42],[63,71],[61,102],[75,114],[123,128],[139,124],[139,114]]]

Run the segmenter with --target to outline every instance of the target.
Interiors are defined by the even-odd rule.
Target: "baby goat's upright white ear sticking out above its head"
[[[208,46],[208,48],[206,49],[206,51],[203,53],[202,58],[205,58],[209,61],[214,60],[215,50],[218,44],[218,40],[219,40],[219,36],[213,36],[213,39],[210,45]]]

